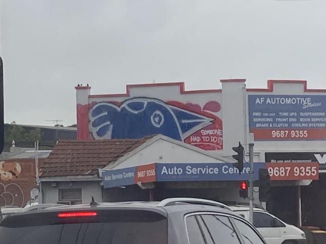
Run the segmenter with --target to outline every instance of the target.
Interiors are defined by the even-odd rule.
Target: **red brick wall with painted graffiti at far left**
[[[39,159],[42,163],[43,159]],[[0,161],[0,206],[23,207],[36,187],[35,159]]]

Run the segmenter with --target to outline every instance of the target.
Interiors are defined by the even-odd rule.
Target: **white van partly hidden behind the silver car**
[[[229,206],[233,211],[249,220],[249,206]],[[306,244],[304,232],[295,227],[284,223],[274,215],[264,209],[254,207],[253,225],[264,237],[267,244]]]

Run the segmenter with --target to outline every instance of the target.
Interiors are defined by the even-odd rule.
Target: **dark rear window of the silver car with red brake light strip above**
[[[167,225],[152,211],[38,212],[4,219],[0,237],[2,244],[167,244]]]

